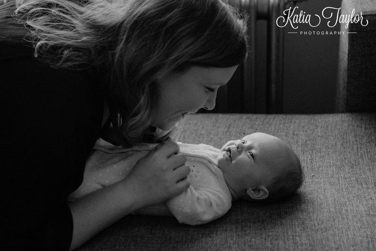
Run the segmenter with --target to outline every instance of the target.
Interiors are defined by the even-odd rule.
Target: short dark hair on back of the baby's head
[[[288,147],[294,156],[289,165],[282,168],[281,175],[277,176],[270,187],[269,196],[258,202],[279,202],[291,197],[303,184],[304,171],[298,155]]]

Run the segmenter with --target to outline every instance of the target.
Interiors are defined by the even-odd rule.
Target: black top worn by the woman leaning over
[[[100,137],[101,78],[94,69],[52,69],[32,51],[0,38],[0,250],[68,250],[66,200]]]

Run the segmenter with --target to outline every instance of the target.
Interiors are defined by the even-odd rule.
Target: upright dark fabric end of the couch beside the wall
[[[341,14],[362,13],[360,22],[341,24],[337,112],[376,111],[376,1],[343,0]],[[347,33],[356,32],[356,33]]]

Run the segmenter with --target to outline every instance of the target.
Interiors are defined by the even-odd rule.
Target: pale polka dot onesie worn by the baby
[[[136,214],[174,216],[180,223],[205,224],[223,216],[231,207],[232,196],[222,171],[216,164],[219,150],[209,145],[178,143],[187,156],[190,186],[163,204],[142,208]],[[137,161],[155,144],[140,144],[130,149],[115,147],[99,139],[87,160],[84,181],[69,200],[82,198],[97,189],[125,178]]]

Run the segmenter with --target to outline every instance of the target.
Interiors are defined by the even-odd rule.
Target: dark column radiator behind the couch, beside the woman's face
[[[257,109],[256,40],[257,21],[267,21],[266,90],[265,109],[262,113],[283,112],[283,28],[276,20],[283,15],[287,5],[306,0],[228,0],[228,3],[248,16],[249,53],[247,60],[238,67],[229,84],[219,88],[216,107],[218,113],[260,113]]]

